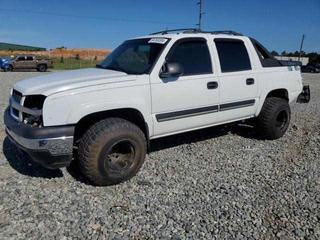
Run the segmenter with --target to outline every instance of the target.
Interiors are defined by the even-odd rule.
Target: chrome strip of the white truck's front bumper
[[[48,150],[49,153],[55,155],[71,153],[73,149],[73,136],[32,139],[15,134],[7,126],[5,126],[5,131],[19,145],[30,150]]]

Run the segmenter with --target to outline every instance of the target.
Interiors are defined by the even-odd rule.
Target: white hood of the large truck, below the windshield
[[[125,72],[101,68],[85,68],[27,78],[16,82],[13,88],[21,92],[22,95],[42,94],[48,96],[56,92],[79,87],[135,79],[136,75],[128,75]]]

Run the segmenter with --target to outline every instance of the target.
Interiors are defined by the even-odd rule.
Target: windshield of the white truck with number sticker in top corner
[[[148,73],[160,52],[168,42],[166,38],[161,43],[152,38],[139,38],[124,41],[107,55],[99,64],[98,68],[123,71],[127,74]]]

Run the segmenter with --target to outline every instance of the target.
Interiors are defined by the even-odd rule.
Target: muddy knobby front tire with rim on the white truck
[[[146,154],[141,129],[121,118],[106,118],[91,125],[78,147],[80,171],[100,185],[118,184],[132,178]]]

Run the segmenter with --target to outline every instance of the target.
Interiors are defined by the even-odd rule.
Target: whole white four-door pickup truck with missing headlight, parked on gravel
[[[136,174],[150,139],[253,117],[276,139],[289,102],[308,102],[299,66],[256,40],[177,30],[126,40],[96,68],[18,81],[4,113],[8,138],[47,168],[74,158],[90,181],[110,185]]]

